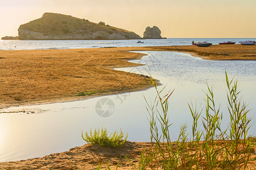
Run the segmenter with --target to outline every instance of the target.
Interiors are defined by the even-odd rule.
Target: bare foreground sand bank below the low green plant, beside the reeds
[[[175,144],[174,150],[176,150]],[[0,169],[97,169],[98,164],[102,163],[101,168],[116,169],[139,169],[141,152],[144,156],[149,154],[150,142],[129,142],[123,146],[108,147],[98,144],[86,144],[81,147],[71,148],[69,151],[60,152],[44,156],[14,162],[0,163]],[[130,162],[125,158],[129,158]],[[255,169],[256,154],[251,154],[254,161],[247,165],[247,169]],[[120,159],[120,160],[119,160]],[[149,169],[149,168],[148,168]]]

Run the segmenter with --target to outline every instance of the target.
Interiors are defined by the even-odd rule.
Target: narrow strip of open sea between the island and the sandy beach
[[[191,45],[192,41],[208,41],[218,44],[223,41],[255,40],[254,39],[234,39],[234,38],[200,38],[200,39],[162,39],[162,40],[141,40],[144,43],[136,43],[138,40],[0,40],[0,50],[20,50],[20,49],[75,49],[75,48],[102,48],[121,46],[169,46],[169,45]]]

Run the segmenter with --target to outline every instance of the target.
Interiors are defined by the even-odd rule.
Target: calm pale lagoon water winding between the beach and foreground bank
[[[178,52],[141,53],[146,53],[147,56],[132,62],[144,63],[145,66],[118,70],[151,75],[167,85],[166,90],[175,89],[168,112],[170,122],[174,123],[171,126],[172,140],[177,138],[179,127],[183,123],[187,123],[188,132],[191,132],[192,117],[188,103],[192,101],[198,107],[204,107],[207,83],[213,87],[217,106],[220,105],[223,112],[222,127],[228,126],[225,70],[230,78],[235,76],[238,80],[242,99],[249,104],[248,109],[251,109],[248,116],[255,122],[256,61],[208,61]],[[98,127],[105,127],[110,132],[122,128],[124,133],[129,134],[129,141],[150,141],[150,116],[143,96],[148,101],[154,99],[154,88],[69,103],[9,108],[40,109],[42,112],[0,114],[0,162],[42,157],[82,146],[85,142],[81,139],[81,131]],[[112,115],[109,117],[97,114],[97,103],[105,99],[114,103],[110,104]],[[101,110],[108,109],[108,106],[102,105]],[[199,127],[203,129],[202,124]],[[255,129],[256,125],[253,124],[249,133],[255,135]]]

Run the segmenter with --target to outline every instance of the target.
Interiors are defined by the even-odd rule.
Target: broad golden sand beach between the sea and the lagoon
[[[151,86],[150,78],[113,70],[139,66],[127,61],[144,54],[130,53],[131,50],[185,52],[205,59],[256,59],[256,46],[242,45],[0,51],[0,107],[145,90]]]

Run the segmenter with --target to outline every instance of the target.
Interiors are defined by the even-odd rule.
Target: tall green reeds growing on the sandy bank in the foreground
[[[142,152],[139,169],[246,169],[251,160],[251,151],[255,141],[247,134],[251,119],[247,118],[246,105],[241,102],[237,92],[237,82],[229,81],[228,110],[230,123],[227,129],[221,129],[222,113],[216,108],[213,90],[208,86],[206,94],[206,116],[201,116],[203,109],[193,104],[189,108],[193,118],[192,138],[188,138],[187,125],[181,125],[179,138],[171,142],[170,124],[168,122],[168,99],[172,92],[162,96],[155,82],[156,97],[147,102],[150,113],[150,131],[152,146],[148,154]],[[160,107],[160,109],[158,109]],[[203,117],[204,130],[197,128],[198,120]],[[203,141],[201,141],[203,139]]]

